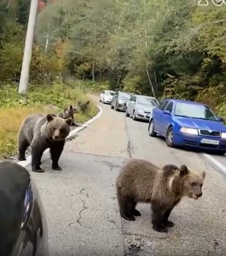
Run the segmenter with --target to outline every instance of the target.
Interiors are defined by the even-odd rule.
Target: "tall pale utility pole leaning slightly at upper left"
[[[24,45],[23,63],[21,77],[19,80],[19,93],[26,93],[29,83],[29,72],[31,64],[31,55],[35,36],[36,17],[38,13],[38,0],[31,0],[30,14],[28,19],[28,28]]]

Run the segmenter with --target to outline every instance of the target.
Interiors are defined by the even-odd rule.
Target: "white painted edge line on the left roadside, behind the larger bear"
[[[90,123],[94,122],[95,120],[97,120],[97,118],[100,118],[100,116],[102,116],[103,114],[103,110],[102,108],[100,108],[99,105],[97,105],[97,108],[99,108],[99,112],[90,120],[88,120],[87,122],[83,123],[83,125],[75,128],[74,130],[70,131],[69,135],[67,136],[67,138],[73,137],[75,136],[76,133],[78,133],[79,131],[82,131],[84,128],[86,128],[87,126],[90,125]],[[46,154],[47,152],[50,152],[50,149],[47,148],[44,152],[43,155]],[[31,155],[28,155],[28,157],[26,157],[26,161],[19,161],[16,164],[19,164],[23,167],[26,167],[27,165],[29,165],[31,163]]]

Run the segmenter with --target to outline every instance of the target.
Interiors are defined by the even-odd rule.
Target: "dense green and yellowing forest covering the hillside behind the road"
[[[30,87],[51,90],[60,81],[82,91],[189,99],[226,118],[226,4],[198,2],[40,1]],[[18,85],[29,8],[30,0],[0,0],[2,102]]]

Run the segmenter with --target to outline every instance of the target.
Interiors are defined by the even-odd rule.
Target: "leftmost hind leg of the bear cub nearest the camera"
[[[120,211],[121,217],[129,221],[136,220],[134,218],[134,215],[131,213],[132,203],[133,203],[132,199],[127,196],[123,196],[121,194],[121,189],[119,188],[117,188],[117,199],[119,202],[119,211]]]

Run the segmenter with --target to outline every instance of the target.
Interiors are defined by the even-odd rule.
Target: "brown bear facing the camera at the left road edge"
[[[41,169],[43,152],[50,148],[52,169],[62,170],[58,160],[62,154],[65,140],[70,133],[72,118],[64,120],[55,114],[30,114],[25,118],[18,133],[18,160],[26,160],[26,149],[31,146],[31,167],[33,172]]]

